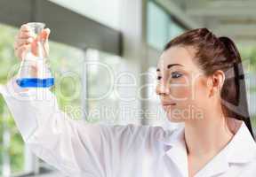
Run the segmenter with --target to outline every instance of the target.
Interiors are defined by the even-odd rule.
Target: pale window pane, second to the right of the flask
[[[121,58],[99,50],[88,50],[86,53],[87,71],[87,109],[86,120],[114,123],[118,118],[118,98],[114,91],[116,68]]]

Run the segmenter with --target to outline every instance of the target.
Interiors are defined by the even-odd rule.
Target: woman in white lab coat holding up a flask
[[[46,29],[41,35],[46,49],[49,34]],[[32,41],[22,26],[15,42],[18,58]],[[156,93],[168,119],[184,127],[65,119],[49,90],[39,90],[49,99],[38,101],[35,90],[19,88],[14,79],[3,93],[31,150],[68,176],[255,176],[256,144],[234,42],[206,28],[188,31],[166,45],[156,72]],[[188,107],[192,113],[185,112]]]

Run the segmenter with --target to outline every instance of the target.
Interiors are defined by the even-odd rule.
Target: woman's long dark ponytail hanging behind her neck
[[[236,91],[235,91],[236,94],[235,96],[232,96],[232,99],[233,99],[232,101],[234,104],[236,104],[236,106],[233,105],[232,109],[228,109],[228,112],[235,119],[244,121],[246,127],[248,127],[254,139],[253,132],[252,132],[252,124],[251,124],[250,114],[249,114],[248,104],[247,104],[246,87],[245,87],[245,81],[244,81],[244,69],[242,65],[241,56],[239,54],[239,51],[236,48],[235,43],[231,39],[229,39],[228,37],[220,37],[219,40],[225,46],[225,49],[227,51],[226,53],[227,59],[230,61],[230,63],[233,63],[234,73],[235,73],[234,74],[235,77],[232,81],[235,82],[234,85],[236,88]],[[225,84],[223,85],[223,88],[224,87],[225,87]],[[226,88],[226,90],[228,90],[228,88]]]

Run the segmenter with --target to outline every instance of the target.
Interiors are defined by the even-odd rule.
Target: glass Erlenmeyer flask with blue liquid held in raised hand
[[[44,43],[39,37],[44,29],[44,23],[30,22],[31,32],[34,40],[29,49],[22,55],[17,83],[22,88],[49,88],[54,84],[54,78],[46,59]]]

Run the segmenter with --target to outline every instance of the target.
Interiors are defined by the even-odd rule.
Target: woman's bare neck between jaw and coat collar
[[[185,122],[185,142],[188,155],[213,157],[232,139],[224,116],[209,115],[207,119]]]

